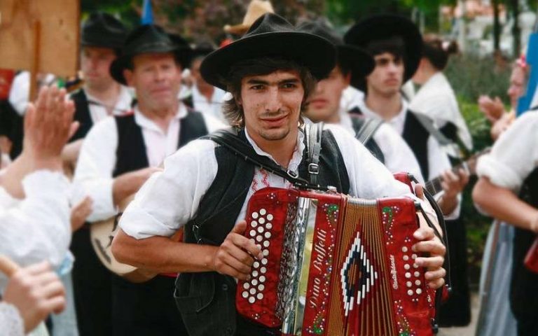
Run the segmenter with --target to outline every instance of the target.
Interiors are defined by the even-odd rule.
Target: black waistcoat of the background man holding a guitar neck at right
[[[429,132],[418,121],[414,113],[407,111],[406,121],[403,123],[403,134],[401,137],[407,142],[411,151],[417,158],[420,172],[426,181],[429,180],[429,165],[428,165],[428,139]]]

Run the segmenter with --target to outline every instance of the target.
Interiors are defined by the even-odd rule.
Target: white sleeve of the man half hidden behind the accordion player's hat
[[[390,172],[408,172],[413,174],[419,183],[424,183],[415,154],[394,128],[382,124],[373,139],[385,155],[385,166]]]

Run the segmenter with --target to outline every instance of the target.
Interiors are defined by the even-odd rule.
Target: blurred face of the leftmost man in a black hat
[[[114,83],[109,73],[110,64],[116,59],[111,48],[83,47],[81,69],[86,85],[94,90],[103,90]]]

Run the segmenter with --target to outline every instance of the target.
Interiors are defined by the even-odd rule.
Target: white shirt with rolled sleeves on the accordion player
[[[382,163],[373,158],[352,135],[338,125],[325,127],[331,130],[340,148],[350,178],[350,195],[368,199],[401,195],[415,198],[409,193],[408,186],[396,181]],[[258,155],[275,161],[256,146],[248,132],[246,135]],[[288,167],[288,170],[296,173],[303,160],[303,137],[303,132],[298,132],[297,145]],[[214,154],[215,146],[213,141],[199,139],[170,155],[165,160],[164,172],[153,174],[124,211],[120,228],[136,239],[170,237],[194,218],[200,200],[216,176],[218,165]],[[251,195],[268,186],[290,188],[289,182],[282,177],[256,168],[237,221],[245,218]],[[425,209],[431,211],[429,204],[425,205]]]

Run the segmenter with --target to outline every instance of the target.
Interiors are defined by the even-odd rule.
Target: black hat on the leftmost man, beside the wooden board
[[[123,23],[108,13],[91,13],[81,29],[83,47],[120,49],[126,37],[127,29]]]

